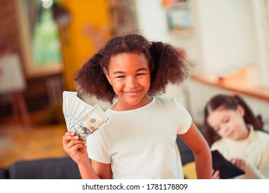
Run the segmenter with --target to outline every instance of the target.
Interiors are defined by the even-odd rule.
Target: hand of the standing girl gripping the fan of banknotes
[[[85,163],[89,160],[86,141],[79,139],[74,132],[66,132],[63,135],[63,150],[77,163]]]

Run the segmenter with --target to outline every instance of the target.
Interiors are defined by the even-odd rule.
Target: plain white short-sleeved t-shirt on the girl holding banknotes
[[[87,139],[90,159],[111,163],[112,179],[183,179],[177,134],[192,118],[172,98],[153,97],[128,111],[108,109],[110,122]]]

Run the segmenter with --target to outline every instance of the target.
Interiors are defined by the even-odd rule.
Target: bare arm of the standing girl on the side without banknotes
[[[195,167],[198,179],[212,179],[212,158],[206,139],[194,123],[185,134],[179,135],[192,150],[195,156]]]

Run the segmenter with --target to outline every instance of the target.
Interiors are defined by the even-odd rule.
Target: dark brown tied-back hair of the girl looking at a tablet
[[[261,120],[257,119],[257,117],[253,114],[250,107],[247,103],[241,98],[241,96],[237,94],[225,95],[225,94],[218,94],[208,103],[204,109],[204,119],[203,119],[203,134],[208,141],[208,144],[211,146],[212,143],[220,139],[221,137],[213,130],[213,128],[208,125],[208,115],[210,114],[209,111],[214,111],[219,107],[222,107],[226,110],[237,110],[237,105],[241,105],[245,111],[243,119],[246,123],[251,124],[254,130],[263,130],[263,123]]]

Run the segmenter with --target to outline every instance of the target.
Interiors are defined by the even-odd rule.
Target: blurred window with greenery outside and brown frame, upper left
[[[61,42],[52,9],[59,1],[17,1],[28,77],[61,72]]]

